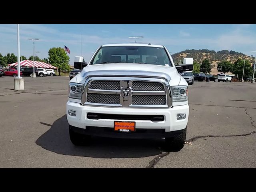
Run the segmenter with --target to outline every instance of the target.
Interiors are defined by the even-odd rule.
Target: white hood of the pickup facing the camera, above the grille
[[[170,86],[187,85],[175,67],[138,63],[108,63],[88,65],[70,82],[84,84],[87,76],[154,76],[166,79]],[[134,75],[133,75],[134,74]]]

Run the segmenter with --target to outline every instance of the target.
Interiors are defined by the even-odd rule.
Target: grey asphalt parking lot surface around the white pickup
[[[24,91],[13,90],[13,79],[0,78],[1,168],[256,167],[256,84],[194,82],[191,143],[166,152],[162,139],[97,137],[91,146],[74,146],[65,112],[69,77],[25,77]]]

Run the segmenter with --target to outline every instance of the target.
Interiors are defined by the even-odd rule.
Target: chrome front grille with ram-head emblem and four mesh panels
[[[83,105],[134,108],[171,106],[169,84],[163,79],[91,77],[85,84]],[[123,89],[130,89],[130,95],[122,95]]]

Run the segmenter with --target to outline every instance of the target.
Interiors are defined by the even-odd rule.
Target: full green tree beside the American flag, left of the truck
[[[64,51],[63,48],[61,47],[50,48],[48,55],[49,55],[48,59],[50,61],[50,64],[52,66],[58,67],[59,75],[60,75],[60,70],[70,71],[70,65],[68,64],[69,56],[67,55],[67,53]]]

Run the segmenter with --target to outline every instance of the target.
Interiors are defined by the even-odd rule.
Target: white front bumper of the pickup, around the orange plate
[[[75,110],[76,116],[70,116],[68,110]],[[87,113],[116,114],[116,115],[163,115],[163,121],[151,120],[123,120],[136,122],[136,132],[114,132],[114,121],[120,119],[88,119]],[[186,114],[186,118],[177,120],[177,114]],[[82,106],[76,102],[68,101],[66,104],[67,120],[70,128],[95,136],[128,137],[138,135],[136,138],[168,137],[179,134],[188,124],[189,106],[173,106],[172,108],[108,108]]]

